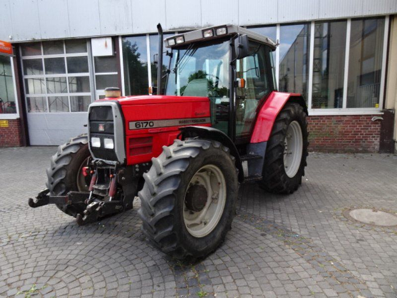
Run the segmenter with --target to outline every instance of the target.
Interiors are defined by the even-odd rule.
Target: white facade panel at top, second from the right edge
[[[319,18],[359,16],[362,6],[362,0],[320,0]]]

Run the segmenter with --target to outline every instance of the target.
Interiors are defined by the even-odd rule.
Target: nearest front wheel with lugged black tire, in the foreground
[[[163,152],[157,158],[152,158],[152,162],[149,172],[143,175],[145,183],[138,193],[141,200],[138,214],[143,222],[142,231],[163,252],[178,259],[188,256],[195,258],[206,256],[224,240],[235,215],[238,180],[234,157],[230,155],[228,148],[218,142],[175,140],[173,145],[164,146]],[[211,169],[214,170],[213,173],[210,173]],[[213,194],[211,199],[208,192],[205,192],[202,186],[198,186],[196,180],[196,182],[192,180],[204,170],[208,171],[209,177],[216,175],[220,177],[219,180],[224,181],[214,183],[218,180],[210,180],[210,194]],[[215,187],[218,187],[216,185],[219,185],[220,189],[221,183],[224,183],[224,201],[218,198],[221,191],[219,195],[215,195],[213,191]],[[197,193],[192,194],[192,186],[195,185]],[[189,195],[188,189],[191,192]],[[187,211],[186,206],[189,206],[188,210],[193,208],[200,212],[200,208],[204,208],[202,206],[206,203],[203,201],[199,203],[189,201],[188,203],[187,198],[189,196],[191,200],[196,200],[196,195],[199,193],[204,193],[201,198],[206,198],[205,202],[211,202],[209,205],[222,202],[224,205],[219,209],[222,214],[218,214],[219,218],[215,216],[215,224],[212,222],[211,229],[189,231],[189,224],[187,224],[186,216],[184,217],[184,212]],[[194,207],[191,207],[193,205]],[[204,221],[202,224],[205,224]],[[208,226],[210,224],[211,221],[208,221]]]

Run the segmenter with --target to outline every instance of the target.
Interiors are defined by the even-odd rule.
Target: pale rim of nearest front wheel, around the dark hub
[[[205,206],[200,211],[189,210],[186,204],[186,193],[189,188],[199,184],[207,192]],[[208,235],[219,223],[226,203],[226,182],[222,171],[215,165],[201,167],[189,182],[183,206],[183,219],[188,232],[197,238]]]

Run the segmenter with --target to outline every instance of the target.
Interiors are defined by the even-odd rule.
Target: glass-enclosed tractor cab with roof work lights
[[[248,143],[258,108],[276,89],[269,38],[235,25],[190,31],[164,40],[170,56],[165,95],[210,100],[211,126]]]

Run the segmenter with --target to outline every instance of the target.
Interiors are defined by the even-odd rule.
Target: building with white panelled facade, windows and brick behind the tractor
[[[396,13],[395,0],[6,1],[0,40],[14,55],[0,56],[0,146],[84,132],[106,86],[147,93],[161,22],[165,37],[233,23],[278,40],[278,88],[303,94],[311,150],[397,150]]]

